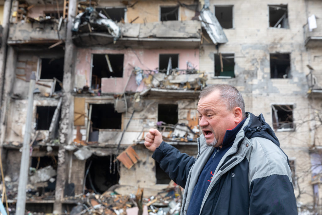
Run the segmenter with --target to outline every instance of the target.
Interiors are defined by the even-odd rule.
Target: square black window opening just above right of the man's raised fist
[[[159,104],[158,122],[175,125],[178,123],[178,105],[177,104]]]

